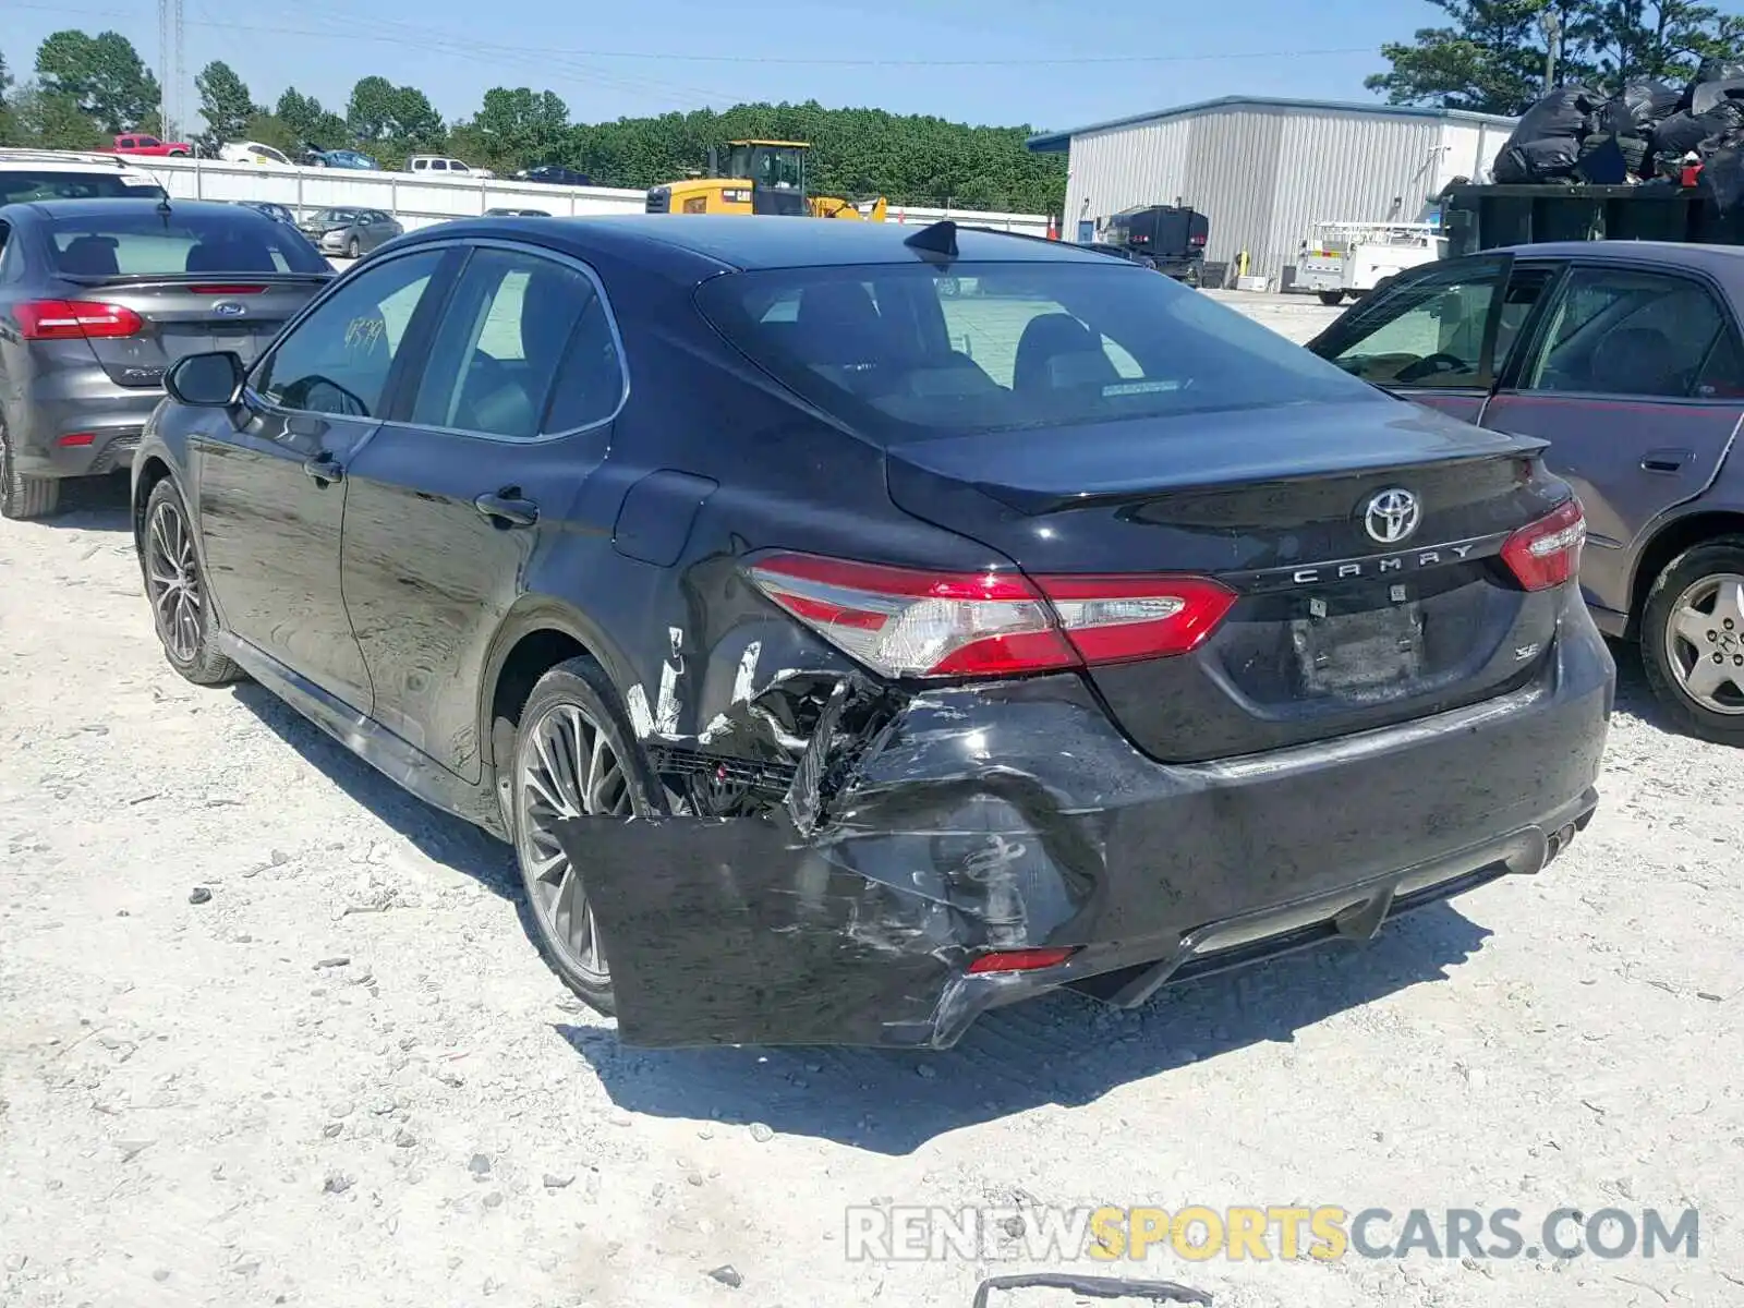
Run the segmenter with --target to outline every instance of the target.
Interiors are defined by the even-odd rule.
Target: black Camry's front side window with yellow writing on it
[[[443,251],[389,260],[345,283],[255,373],[267,403],[305,413],[378,417],[412,314]]]

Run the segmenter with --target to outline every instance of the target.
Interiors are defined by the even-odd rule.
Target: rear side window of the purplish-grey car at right
[[[1575,269],[1550,310],[1526,391],[1683,399],[1728,337],[1697,281],[1632,269]]]

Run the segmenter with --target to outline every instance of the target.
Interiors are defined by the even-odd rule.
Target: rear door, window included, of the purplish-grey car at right
[[[1484,426],[1550,441],[1587,511],[1587,602],[1629,610],[1634,546],[1700,495],[1744,417],[1737,324],[1706,279],[1617,262],[1570,269]]]

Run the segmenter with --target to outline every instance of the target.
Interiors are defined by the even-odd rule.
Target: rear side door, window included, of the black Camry
[[[344,586],[373,715],[467,781],[490,640],[605,457],[624,377],[586,265],[481,242],[415,391],[352,460]]]

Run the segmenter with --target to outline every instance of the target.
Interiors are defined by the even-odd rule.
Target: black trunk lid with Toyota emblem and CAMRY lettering
[[[1529,680],[1559,596],[1521,589],[1498,555],[1568,494],[1542,448],[1376,398],[893,445],[888,476],[903,511],[1031,574],[1189,572],[1233,588],[1191,654],[1088,673],[1135,745],[1193,762]],[[1420,513],[1386,544],[1366,521],[1392,490]]]

